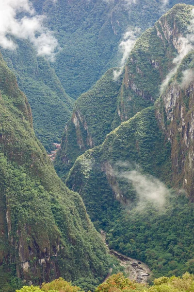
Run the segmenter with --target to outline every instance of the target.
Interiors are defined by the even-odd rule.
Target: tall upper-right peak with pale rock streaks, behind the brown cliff
[[[118,115],[121,122],[147,106],[160,95],[160,85],[173,67],[175,54],[182,53],[192,6],[176,5],[147,30],[132,50],[121,91],[118,96]],[[182,14],[186,21],[181,23]]]

